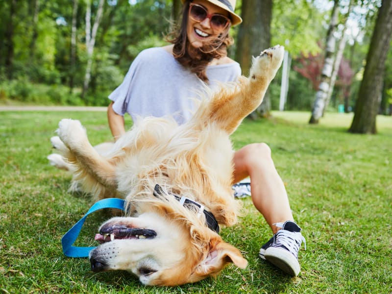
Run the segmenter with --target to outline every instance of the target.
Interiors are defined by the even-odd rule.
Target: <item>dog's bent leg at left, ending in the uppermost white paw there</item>
[[[116,188],[115,167],[107,159],[99,155],[91,146],[86,130],[76,120],[63,119],[58,124],[57,133],[61,141],[68,147],[64,157],[76,165],[80,179],[89,177],[106,188]]]

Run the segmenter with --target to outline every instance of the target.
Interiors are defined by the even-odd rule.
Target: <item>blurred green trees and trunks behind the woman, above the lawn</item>
[[[275,44],[287,50],[256,115],[315,111],[320,84],[328,85],[322,112],[353,111],[372,55],[378,67],[371,99],[377,114],[391,115],[390,2],[237,0],[244,22],[231,28],[229,55],[243,73],[260,50]],[[180,0],[0,0],[0,104],[108,105],[136,55],[167,44],[181,6]]]

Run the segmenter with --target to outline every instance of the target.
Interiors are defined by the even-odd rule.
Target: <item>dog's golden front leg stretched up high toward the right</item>
[[[257,108],[282,64],[284,48],[275,46],[253,58],[248,78],[241,77],[232,89],[222,88],[210,102],[210,122],[219,123],[228,134]]]

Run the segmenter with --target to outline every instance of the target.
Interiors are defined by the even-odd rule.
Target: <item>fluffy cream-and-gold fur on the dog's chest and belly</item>
[[[177,126],[168,120],[144,119],[117,143],[124,152],[116,164],[118,190],[126,200],[156,200],[156,184],[201,202],[211,210],[231,202],[232,146],[228,135],[211,124]],[[143,203],[143,202],[142,202]],[[234,207],[233,207],[234,208]],[[224,208],[227,212],[227,208]]]

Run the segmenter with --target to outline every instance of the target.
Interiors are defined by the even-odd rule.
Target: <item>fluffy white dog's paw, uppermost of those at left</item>
[[[86,129],[77,120],[63,119],[58,123],[57,134],[69,148],[80,146],[87,140]]]

